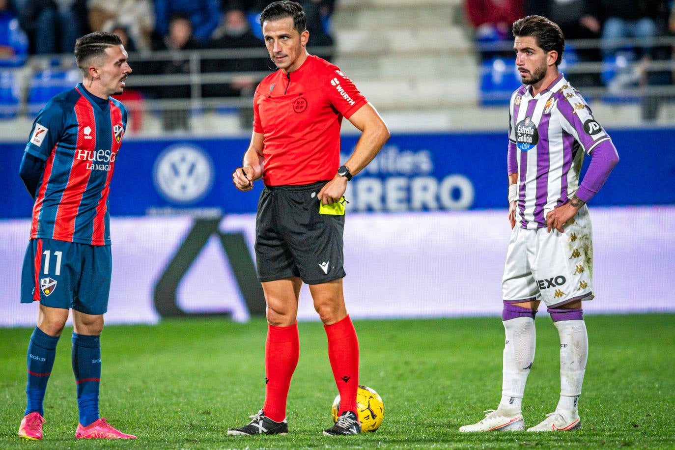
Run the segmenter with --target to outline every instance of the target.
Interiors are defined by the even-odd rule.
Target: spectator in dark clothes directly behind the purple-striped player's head
[[[566,43],[564,58],[576,59],[580,62],[597,62],[601,60],[599,38],[602,24],[595,0],[528,0],[525,2],[525,15],[544,16],[556,24],[565,35],[565,40],[595,39],[597,44],[589,48],[574,48]],[[570,56],[568,56],[570,55]],[[597,69],[588,73],[565,74],[574,86],[600,86],[600,74]]]

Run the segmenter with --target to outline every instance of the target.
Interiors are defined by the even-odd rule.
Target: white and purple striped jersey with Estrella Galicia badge
[[[520,226],[546,227],[546,214],[572,198],[585,154],[610,136],[564,76],[532,96],[520,86],[509,108],[508,173],[518,173]]]

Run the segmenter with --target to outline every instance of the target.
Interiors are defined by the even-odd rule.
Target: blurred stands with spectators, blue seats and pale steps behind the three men
[[[252,92],[274,69],[259,26],[259,15],[269,3],[0,0],[0,121],[16,121],[19,126],[12,125],[12,130],[25,128],[55,92],[80,78],[73,67],[76,38],[105,30],[118,34],[130,52],[134,72],[121,96],[132,111],[130,132],[148,132],[148,121],[156,118],[155,131],[199,133],[211,117],[205,113],[234,117],[234,129],[246,130]],[[466,123],[444,109],[475,111],[508,103],[519,84],[510,24],[531,13],[560,24],[568,40],[563,70],[590,100],[620,105],[639,116],[639,123],[672,119],[659,110],[674,97],[673,1],[299,3],[308,18],[309,51],[338,63],[344,72],[344,65],[352,69],[346,73],[375,106],[391,111],[394,130],[397,113],[406,117],[418,111],[418,117],[433,117],[426,120],[431,127],[458,130]],[[435,62],[427,57],[429,52],[435,52]],[[437,105],[431,99],[434,90],[441,99]],[[379,97],[383,100],[375,100]],[[0,131],[5,129],[0,126]],[[219,134],[219,126],[205,132]]]

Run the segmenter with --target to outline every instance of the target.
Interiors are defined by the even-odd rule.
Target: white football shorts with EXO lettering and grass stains
[[[593,300],[593,229],[586,205],[564,229],[512,229],[502,277],[505,302],[543,300],[550,307]]]

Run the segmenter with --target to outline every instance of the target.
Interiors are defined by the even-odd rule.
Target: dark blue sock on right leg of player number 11
[[[101,341],[99,336],[73,332],[73,373],[78,386],[80,424],[87,426],[99,419],[101,384]]]

